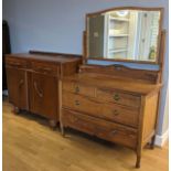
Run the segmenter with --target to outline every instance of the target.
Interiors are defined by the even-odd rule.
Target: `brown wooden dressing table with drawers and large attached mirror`
[[[161,23],[161,8],[114,8],[86,15],[84,64],[61,83],[63,135],[68,127],[128,147],[140,168],[143,147],[154,147],[165,38]],[[88,60],[117,63],[90,65]]]

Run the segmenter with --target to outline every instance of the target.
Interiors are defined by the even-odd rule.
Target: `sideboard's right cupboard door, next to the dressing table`
[[[50,119],[57,119],[57,78],[32,74],[31,111]]]

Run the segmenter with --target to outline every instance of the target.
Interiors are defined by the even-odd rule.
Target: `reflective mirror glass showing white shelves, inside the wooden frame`
[[[87,57],[157,62],[160,10],[111,10],[87,14]]]

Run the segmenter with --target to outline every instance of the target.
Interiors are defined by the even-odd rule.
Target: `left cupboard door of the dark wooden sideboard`
[[[9,101],[19,109],[29,109],[26,72],[7,67]]]

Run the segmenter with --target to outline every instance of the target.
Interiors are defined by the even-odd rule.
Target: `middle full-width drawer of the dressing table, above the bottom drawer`
[[[137,127],[138,125],[139,111],[132,107],[120,106],[111,103],[99,103],[95,99],[66,92],[63,92],[63,106],[127,126]]]

